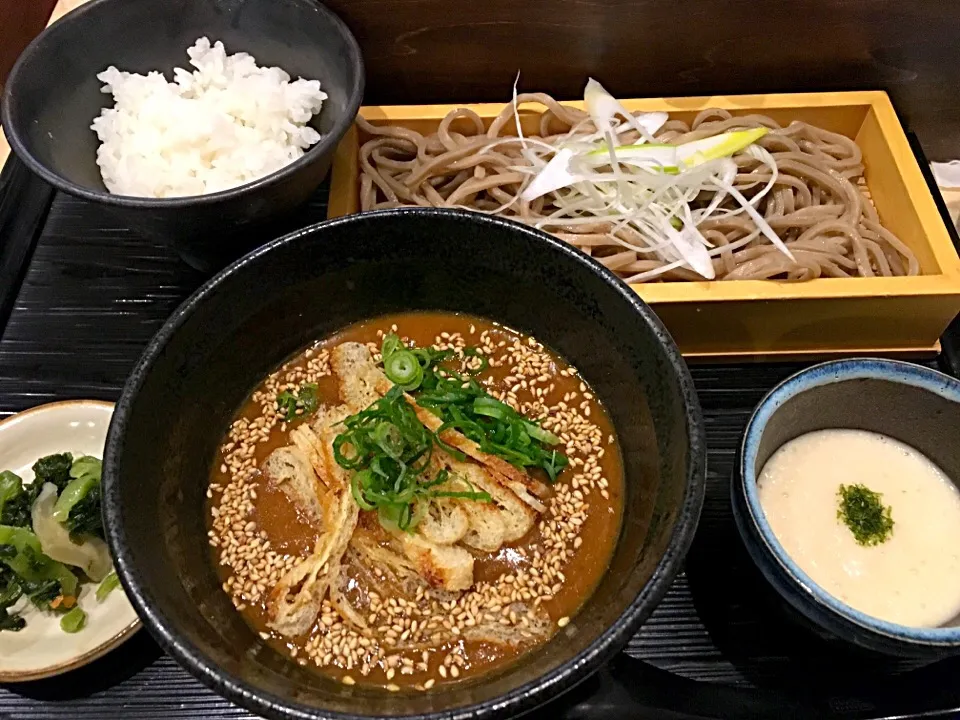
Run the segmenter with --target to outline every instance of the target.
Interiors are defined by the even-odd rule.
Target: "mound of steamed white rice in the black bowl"
[[[176,197],[226,190],[269,175],[320,139],[306,123],[326,99],[317,80],[261,68],[203,37],[187,50],[193,72],[97,75],[115,105],[94,119],[97,165],[118,195]]]

